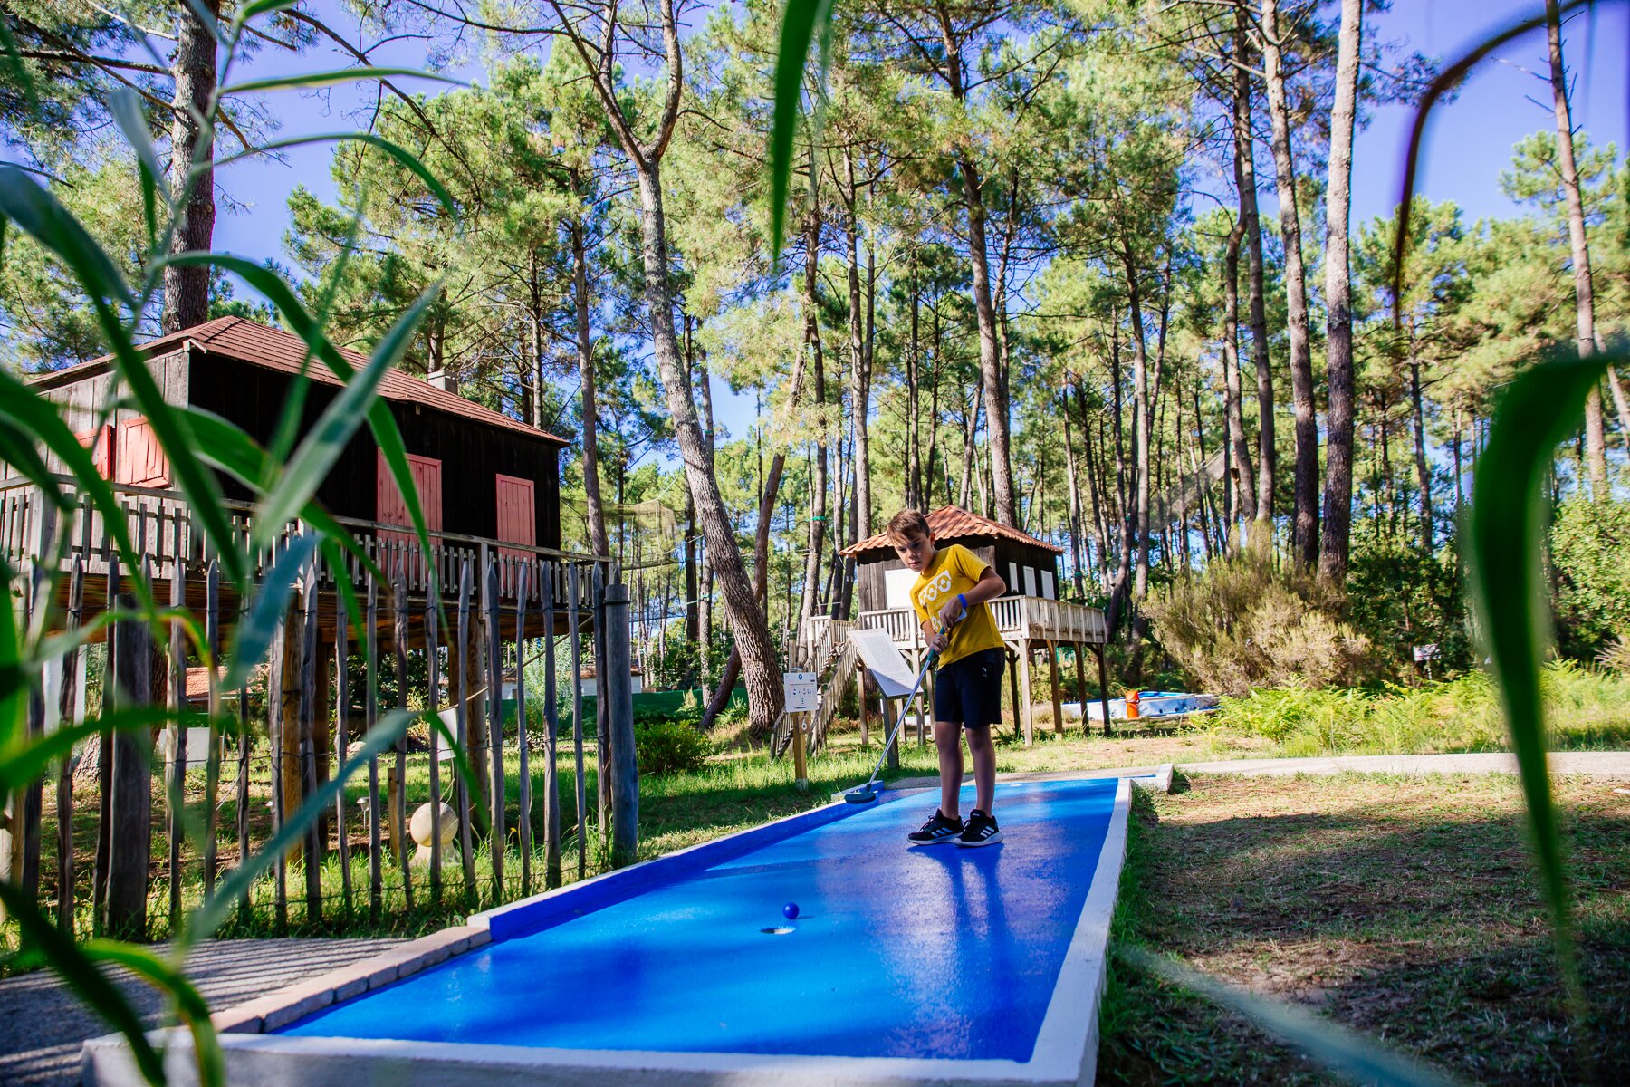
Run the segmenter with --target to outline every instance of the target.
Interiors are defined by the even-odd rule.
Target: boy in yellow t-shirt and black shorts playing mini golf
[[[939,670],[934,673],[939,810],[906,838],[914,846],[949,841],[958,846],[989,846],[1002,838],[991,815],[991,794],[996,789],[991,725],[1002,719],[1006,649],[985,601],[1006,593],[1007,585],[967,548],[936,548],[927,518],[916,510],[901,510],[888,521],[888,543],[906,569],[916,570],[911,606],[929,649],[939,650]],[[963,732],[973,756],[975,794],[967,823],[958,815]]]

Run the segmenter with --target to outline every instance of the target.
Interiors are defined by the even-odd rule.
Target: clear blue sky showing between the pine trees
[[[323,0],[321,11],[329,7]],[[1394,0],[1392,10],[1371,16],[1372,29],[1410,51],[1449,60],[1487,36],[1542,10],[1537,0]],[[334,18],[336,28],[346,20]],[[1623,57],[1630,54],[1630,10],[1601,5],[1573,20],[1566,28],[1566,55],[1575,85],[1575,124],[1593,142],[1625,145],[1630,77]],[[375,54],[375,64],[422,67],[422,44],[394,42]],[[333,46],[319,46],[300,57],[266,51],[236,73],[244,78],[275,72],[310,72],[318,67],[349,67],[350,57]],[[481,67],[455,72],[481,80]],[[1500,191],[1500,171],[1509,166],[1511,148],[1524,135],[1553,125],[1545,81],[1545,36],[1531,33],[1485,60],[1462,86],[1457,98],[1441,106],[1428,130],[1420,191],[1433,200],[1456,200],[1469,218],[1511,215],[1518,209]],[[432,83],[403,81],[434,93]],[[282,119],[282,135],[334,132],[357,127],[355,111],[372,103],[367,86],[334,88],[318,95],[284,93],[272,106]],[[1535,99],[1535,101],[1531,101]],[[349,116],[347,116],[349,114]],[[1397,205],[1403,174],[1403,147],[1413,111],[1384,106],[1371,111],[1355,147],[1353,220],[1361,223],[1387,215]],[[323,199],[333,199],[329,147],[298,148],[285,163],[244,161],[217,174],[217,183],[236,202],[238,213],[223,213],[215,225],[215,246],[253,259],[287,261],[284,231],[287,199],[305,184]],[[1271,163],[1258,166],[1271,207]],[[753,417],[750,398],[735,398],[716,388],[720,422],[740,435]]]

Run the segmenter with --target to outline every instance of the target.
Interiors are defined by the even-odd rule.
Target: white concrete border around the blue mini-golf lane
[[[235,1087],[601,1087],[608,1082],[631,1087],[1089,1087],[1097,1074],[1099,999],[1108,976],[1108,927],[1126,854],[1130,807],[1131,782],[1123,779],[1029,1061],[543,1050],[261,1033],[489,942],[487,926],[471,924],[218,1012],[215,1023],[222,1032],[228,1082]],[[166,1046],[170,1082],[176,1087],[197,1084],[189,1035],[171,1028],[150,1036]],[[143,1084],[119,1035],[86,1041],[80,1061],[86,1087]]]

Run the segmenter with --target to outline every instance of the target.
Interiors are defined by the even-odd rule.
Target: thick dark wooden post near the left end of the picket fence
[[[129,596],[121,606],[134,608]],[[112,627],[114,702],[145,706],[153,696],[153,636],[140,619]],[[152,862],[153,776],[152,732],[126,728],[112,738],[112,802],[108,849],[108,932],[117,939],[147,937],[147,872]]]

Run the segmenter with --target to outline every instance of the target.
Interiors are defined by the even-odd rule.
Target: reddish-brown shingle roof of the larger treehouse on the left
[[[179,332],[160,336],[158,339],[142,344],[139,350],[152,357],[165,354],[166,350],[179,349],[189,341],[210,354],[227,355],[228,359],[236,359],[238,362],[246,362],[253,367],[280,370],[282,373],[298,373],[300,362],[305,359],[305,341],[298,336],[280,328],[261,324],[259,321],[249,321],[248,318],[215,318],[214,321],[194,324],[192,328],[181,329]],[[341,347],[339,354],[355,367],[367,365],[368,362],[367,355],[346,347]],[[47,388],[65,385],[90,373],[106,370],[109,362],[112,362],[112,355],[103,355],[101,359],[68,367],[67,370],[57,370],[55,373],[37,376],[33,383]],[[313,381],[321,385],[341,385],[341,380],[334,376],[321,362],[313,362],[306,373]],[[463,416],[465,419],[484,422],[491,427],[518,430],[520,433],[533,438],[543,438],[546,442],[554,442],[556,445],[567,445],[564,438],[538,430],[536,427],[530,427],[518,419],[510,419],[509,416],[492,411],[491,407],[482,407],[481,404],[468,401],[463,396],[438,389],[429,381],[403,373],[401,370],[393,368],[385,375],[380,381],[380,396],[388,401],[404,404],[424,404],[425,407],[445,411],[452,416]]]

